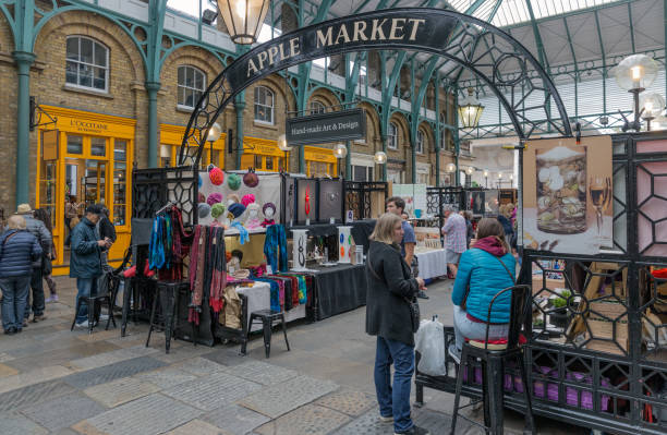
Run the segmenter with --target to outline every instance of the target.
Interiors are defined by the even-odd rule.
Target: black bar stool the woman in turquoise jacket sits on
[[[523,348],[520,343],[521,328],[524,325],[530,312],[532,298],[530,286],[519,285],[508,287],[507,289],[500,290],[488,304],[488,317],[490,318],[494,302],[504,294],[505,292],[511,291],[511,304],[510,304],[510,323],[509,333],[506,342],[489,343],[488,342],[488,329],[489,324],[486,325],[486,338],[484,340],[469,340],[463,343],[461,352],[461,365],[459,366],[459,373],[457,375],[457,389],[454,397],[454,408],[451,416],[451,430],[450,434],[453,435],[457,428],[457,418],[459,416],[459,409],[472,407],[480,401],[484,403],[484,424],[480,424],[473,420],[461,415],[462,419],[484,428],[484,433],[493,435],[501,435],[504,432],[502,426],[502,401],[504,401],[504,363],[508,358],[517,361],[517,366],[521,372],[521,382],[524,386],[523,396],[525,399],[526,410],[525,419],[526,426],[531,433],[535,433],[535,424],[533,422],[533,407],[531,404],[531,392],[527,384],[527,375],[525,372],[525,365],[523,363]],[[447,352],[447,350],[445,350]],[[471,358],[477,359],[482,362],[482,398],[480,400],[471,400],[469,404],[459,407],[461,399],[461,388],[463,386],[463,373],[468,368],[469,360]],[[469,379],[473,376],[469,373]]]

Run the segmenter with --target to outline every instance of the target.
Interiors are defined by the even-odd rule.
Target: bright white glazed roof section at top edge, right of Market
[[[487,21],[497,8],[492,24],[498,27],[512,26],[531,21],[529,4],[535,20],[560,15],[580,9],[611,3],[618,0],[485,0],[477,4],[474,16]],[[500,5],[498,7],[498,2]],[[450,0],[449,4],[459,12],[465,12],[478,3],[477,0]]]

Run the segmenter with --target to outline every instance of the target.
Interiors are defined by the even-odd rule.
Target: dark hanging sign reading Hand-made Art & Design
[[[366,113],[352,109],[288,118],[284,131],[290,146],[356,141],[366,136]]]

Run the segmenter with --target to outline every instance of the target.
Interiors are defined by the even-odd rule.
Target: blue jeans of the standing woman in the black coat
[[[391,364],[393,363],[393,386]],[[375,391],[380,415],[393,415],[393,431],[405,432],[413,426],[410,419],[410,385],[414,373],[414,347],[377,337],[375,352]]]

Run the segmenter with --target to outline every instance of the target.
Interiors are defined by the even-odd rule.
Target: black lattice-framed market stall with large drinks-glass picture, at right
[[[527,145],[520,281],[533,293],[524,348],[533,412],[609,433],[664,434],[667,136]],[[454,391],[449,357],[446,365],[446,376],[417,372],[417,401],[424,387]],[[463,395],[480,397],[480,384],[476,367]],[[523,388],[506,366],[505,406],[524,412]]]

